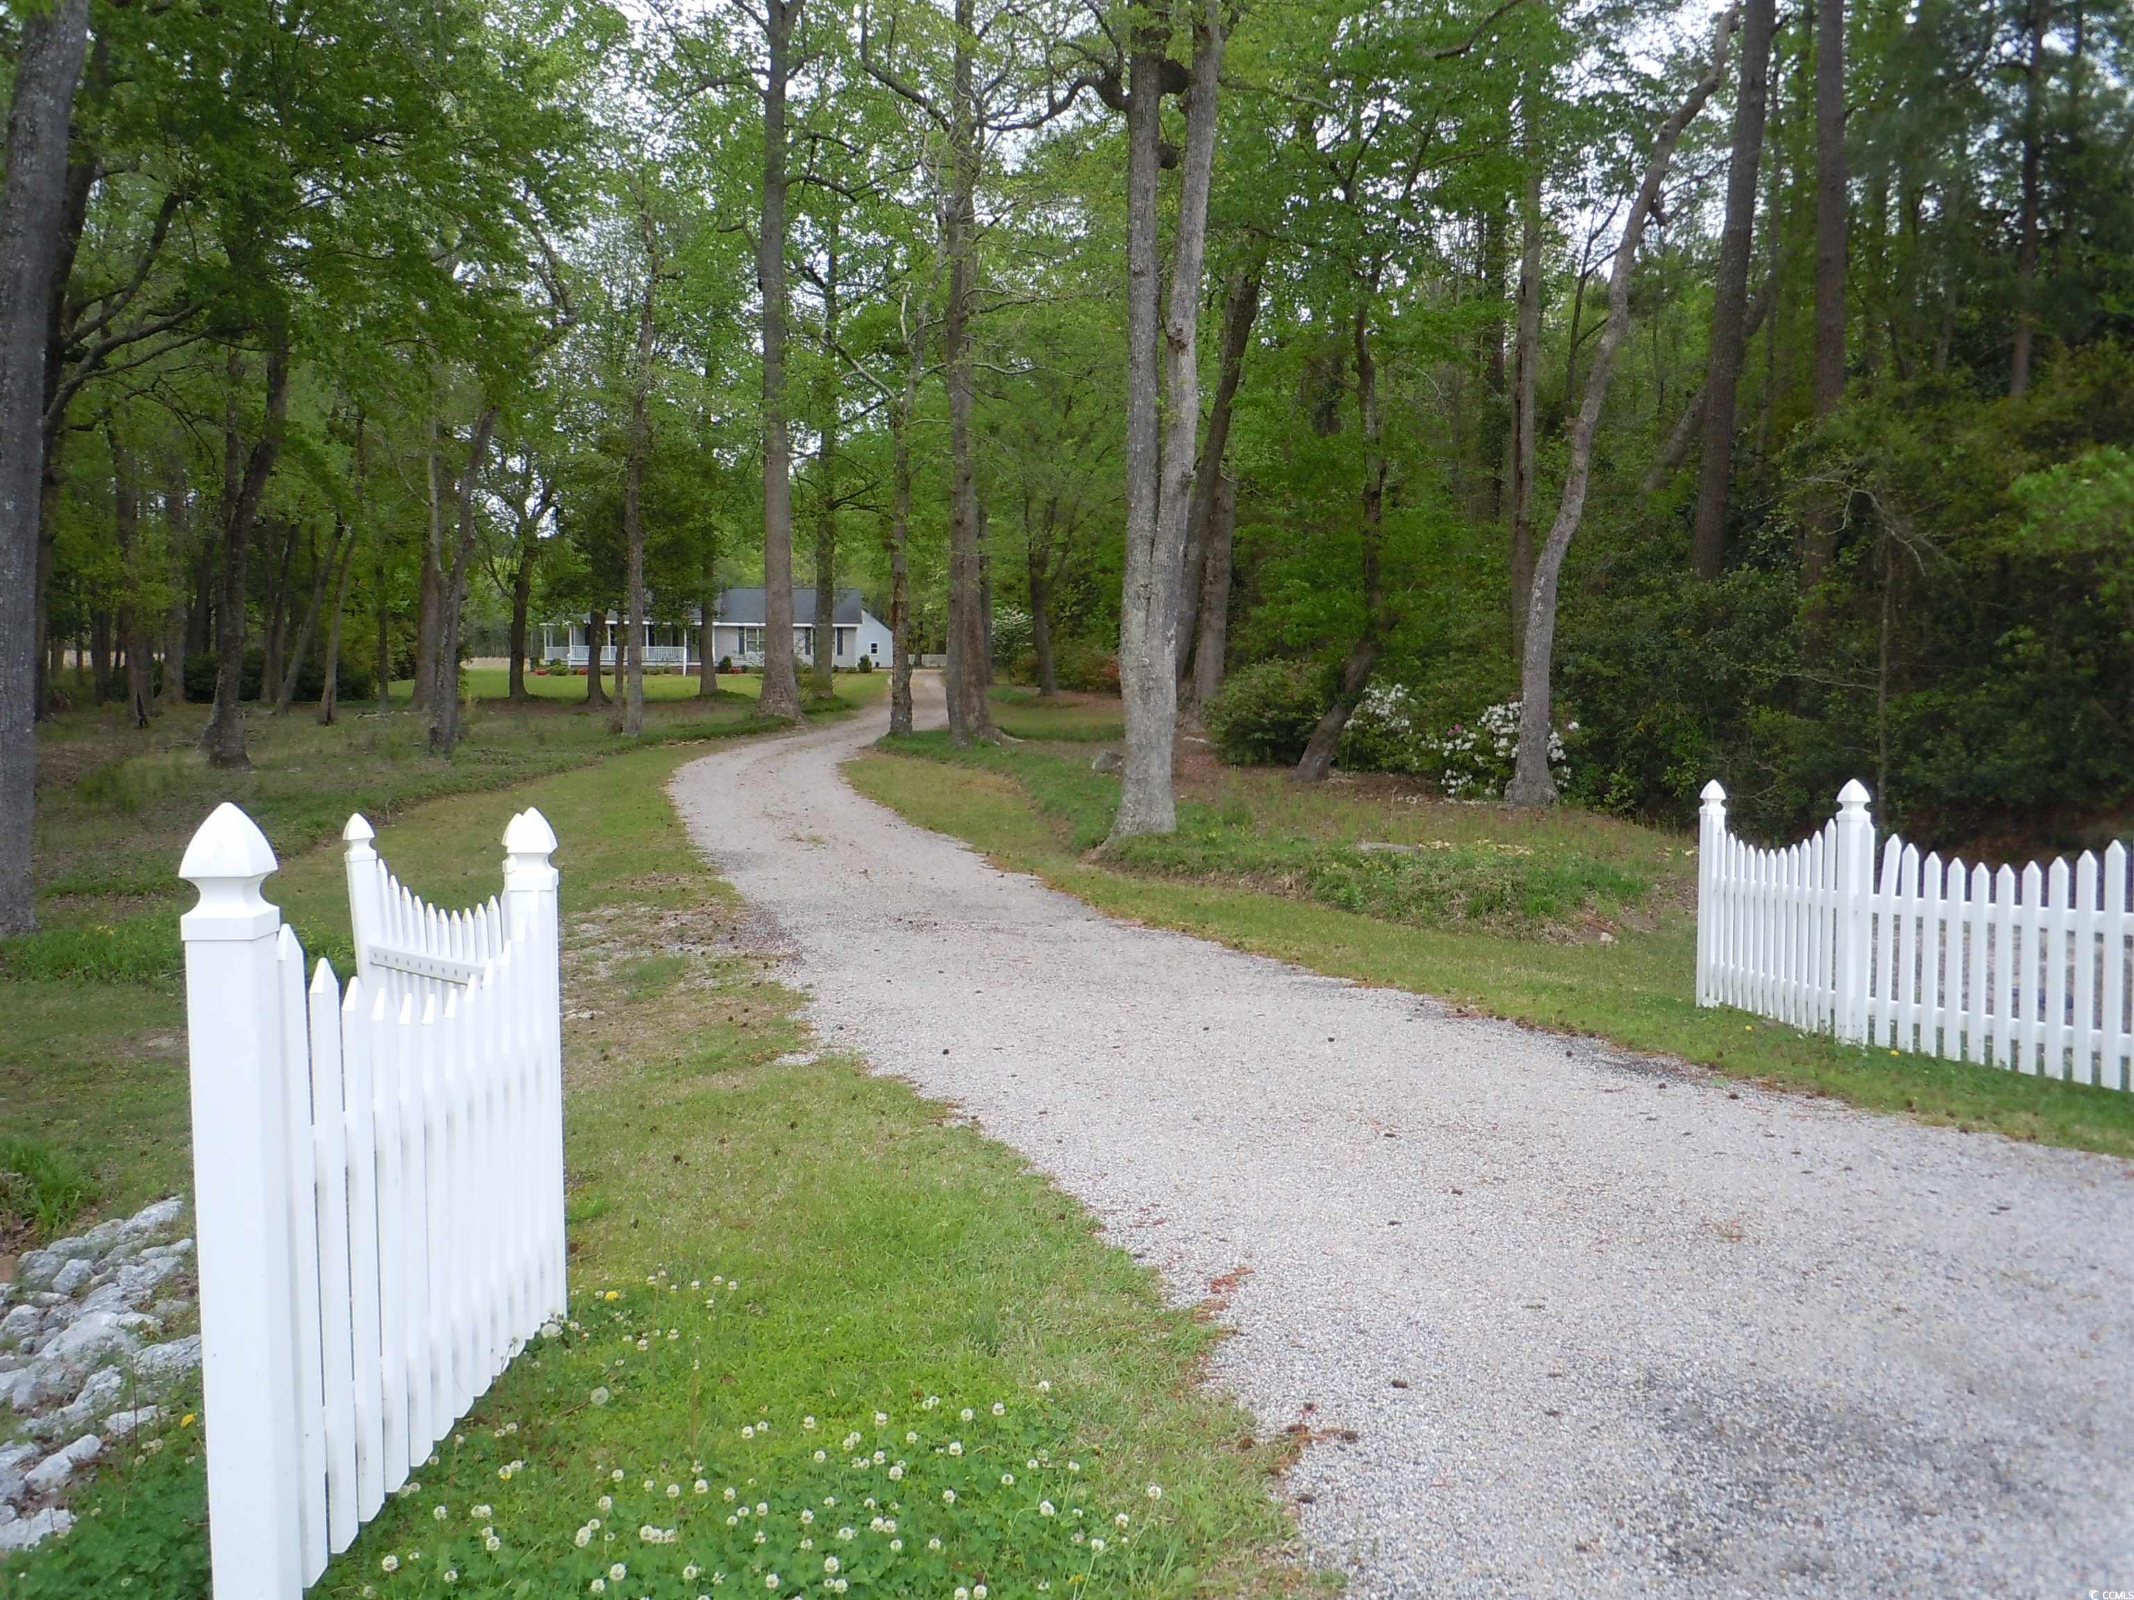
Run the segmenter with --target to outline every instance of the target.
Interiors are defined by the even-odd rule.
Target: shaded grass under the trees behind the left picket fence
[[[649,706],[644,738],[758,732],[753,683],[743,695]],[[886,678],[851,674],[837,685],[841,698],[864,702],[883,693]],[[339,725],[320,727],[299,708],[280,719],[254,713],[252,770],[216,772],[192,749],[205,719],[205,706],[179,706],[134,732],[105,706],[41,732],[41,928],[0,943],[0,1146],[32,1141],[73,1156],[113,1212],[169,1193],[190,1161],[171,1135],[186,1107],[177,917],[192,902],[177,862],[220,800],[252,813],[294,862],[339,838],[350,811],[384,830],[437,796],[501,789],[623,747],[602,717],[557,704],[478,700],[450,759],[429,755],[423,719],[410,710],[352,706]],[[469,900],[476,885],[493,887],[495,860],[489,841],[465,862]],[[337,873],[329,873],[335,883]],[[288,877],[299,877],[294,864]],[[337,898],[299,928],[314,951],[339,960],[350,949]],[[6,1250],[6,1214],[17,1207],[0,1212]]]

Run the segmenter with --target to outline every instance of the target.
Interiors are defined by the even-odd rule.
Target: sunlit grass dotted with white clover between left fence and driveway
[[[380,828],[393,868],[442,902],[495,885],[510,813],[538,804],[563,841],[572,1323],[318,1594],[1310,1587],[1268,1493],[1289,1440],[1253,1438],[1195,1382],[1212,1327],[1014,1152],[811,1054],[796,996],[736,951],[734,896],[666,802],[694,753],[636,749]],[[292,853],[267,894],[331,943],[339,849]],[[128,988],[66,983],[107,1003]],[[132,988],[175,1060],[175,992]],[[156,1077],[179,1073],[120,1056],[70,1092],[77,1109],[128,1099],[181,1152],[181,1082],[143,1092]],[[117,1457],[64,1542],[0,1568],[0,1596],[201,1596],[194,1438]]]

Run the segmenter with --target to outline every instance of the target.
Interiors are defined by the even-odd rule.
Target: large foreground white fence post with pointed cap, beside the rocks
[[[303,1589],[282,913],[260,896],[275,866],[254,821],[220,804],[177,868],[201,892],[179,934],[216,1600],[286,1600]]]

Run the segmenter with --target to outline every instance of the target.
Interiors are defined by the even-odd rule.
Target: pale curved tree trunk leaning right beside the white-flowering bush
[[[1600,348],[1594,352],[1592,371],[1586,378],[1586,401],[1579,405],[1577,422],[1571,427],[1571,459],[1564,463],[1564,493],[1549,525],[1549,540],[1541,546],[1534,563],[1534,597],[1526,608],[1526,657],[1522,670],[1519,704],[1519,753],[1504,789],[1504,798],[1522,806],[1545,806],[1556,802],[1556,777],[1549,772],[1549,727],[1551,727],[1551,668],[1556,653],[1556,582],[1562,576],[1564,555],[1571,538],[1579,531],[1586,514],[1586,486],[1592,478],[1594,431],[1600,427],[1600,403],[1607,399],[1609,375],[1615,365],[1615,348],[1630,326],[1630,271],[1637,267],[1637,247],[1645,239],[1645,218],[1652,215],[1667,181],[1669,162],[1682,130],[1690,126],[1705,100],[1726,75],[1726,51],[1733,30],[1739,23],[1739,9],[1729,9],[1714,30],[1711,60],[1703,77],[1688,92],[1675,113],[1660,124],[1645,162],[1645,177],[1630,203],[1630,220],[1624,222],[1622,243],[1615,245],[1615,262],[1607,288],[1607,326],[1600,331]]]

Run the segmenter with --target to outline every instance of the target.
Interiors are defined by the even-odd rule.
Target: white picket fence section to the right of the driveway
[[[1837,1039],[2134,1088],[2128,849],[1987,870],[1891,834],[1876,875],[1867,789],[1788,849],[1726,830],[1707,783],[1697,849],[1697,1003]]]

